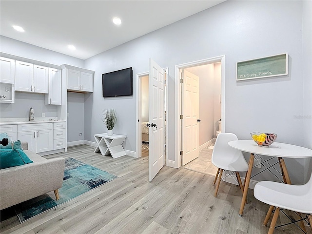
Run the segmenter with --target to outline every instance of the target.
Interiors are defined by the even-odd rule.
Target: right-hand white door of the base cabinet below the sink
[[[53,130],[39,130],[36,137],[36,153],[53,150]]]

